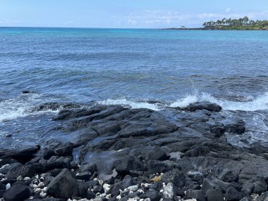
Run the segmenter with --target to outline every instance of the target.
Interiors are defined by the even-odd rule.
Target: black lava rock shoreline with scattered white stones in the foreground
[[[197,102],[166,116],[127,106],[47,103],[70,142],[0,151],[0,197],[20,200],[268,200],[268,147],[243,119]]]

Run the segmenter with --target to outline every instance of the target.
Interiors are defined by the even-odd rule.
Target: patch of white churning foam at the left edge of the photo
[[[4,100],[0,102],[0,122],[35,114],[30,113],[30,109],[32,106],[41,104],[44,100],[44,97],[39,94],[19,95],[13,99]]]

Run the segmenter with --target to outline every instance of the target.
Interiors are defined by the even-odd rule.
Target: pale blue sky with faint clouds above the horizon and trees
[[[196,28],[244,16],[268,20],[268,0],[0,0],[0,27]]]

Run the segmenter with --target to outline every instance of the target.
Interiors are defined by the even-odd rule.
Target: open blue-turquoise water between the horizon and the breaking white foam
[[[169,102],[193,87],[217,97],[267,87],[264,31],[0,28],[0,44],[1,98]]]

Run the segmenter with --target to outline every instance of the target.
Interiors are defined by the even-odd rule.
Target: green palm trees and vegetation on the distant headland
[[[268,20],[250,20],[248,17],[209,21],[203,24],[205,29],[211,30],[268,30]]]

